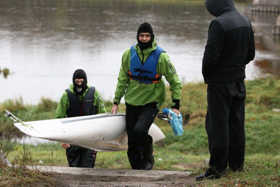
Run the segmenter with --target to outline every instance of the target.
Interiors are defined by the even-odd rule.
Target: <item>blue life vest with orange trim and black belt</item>
[[[161,76],[158,75],[156,68],[158,59],[162,52],[165,52],[159,46],[148,56],[145,62],[141,62],[137,51],[134,49],[135,45],[130,48],[130,69],[128,76],[130,79],[139,80],[144,83],[157,83]]]

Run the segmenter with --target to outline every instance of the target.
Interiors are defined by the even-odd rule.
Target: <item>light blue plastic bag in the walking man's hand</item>
[[[171,125],[172,130],[176,136],[182,136],[184,130],[183,130],[183,117],[181,113],[179,112],[179,117],[177,117],[177,114],[172,112],[170,108],[164,108],[162,109],[162,112],[167,114],[172,114],[172,120],[168,121],[168,123]]]

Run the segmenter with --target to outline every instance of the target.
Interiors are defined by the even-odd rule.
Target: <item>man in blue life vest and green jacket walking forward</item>
[[[165,84],[172,92],[171,110],[180,108],[181,81],[166,52],[154,40],[153,28],[142,23],[137,31],[138,43],[122,56],[115,98],[114,114],[123,96],[126,104],[127,156],[132,169],[151,170],[155,163],[150,126],[165,100]]]

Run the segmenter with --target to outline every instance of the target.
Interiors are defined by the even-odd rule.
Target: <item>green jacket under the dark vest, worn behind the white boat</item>
[[[83,97],[85,98],[85,94],[88,92],[88,89],[91,87],[87,84],[88,88],[85,90],[84,94],[83,94]],[[72,93],[75,93],[74,92],[74,85],[71,84],[69,86],[69,90],[70,92]],[[82,96],[81,95],[78,95],[78,97],[80,98],[80,100],[82,100]],[[58,106],[57,106],[57,109],[56,109],[56,112],[55,112],[55,118],[66,118],[66,110],[69,109],[69,98],[68,98],[68,95],[67,95],[67,92],[65,91],[61,98],[60,98],[60,101],[58,103]],[[102,98],[100,97],[99,95],[99,92],[97,91],[97,89],[95,89],[95,92],[94,92],[94,106],[96,107],[96,114],[101,114],[101,113],[105,113],[106,112],[106,108],[104,106],[104,103],[103,103],[103,100]]]

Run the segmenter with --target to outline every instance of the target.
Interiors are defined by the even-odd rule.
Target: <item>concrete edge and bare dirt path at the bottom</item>
[[[57,181],[56,186],[200,186],[190,172],[97,169],[57,166],[37,166],[41,171],[51,172]]]

